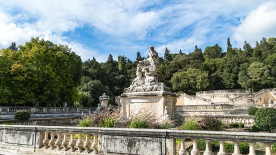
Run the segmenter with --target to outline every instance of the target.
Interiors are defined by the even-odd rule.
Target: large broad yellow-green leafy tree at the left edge
[[[11,48],[11,49],[10,49]],[[25,45],[0,50],[0,103],[73,105],[82,75],[80,56],[67,45],[32,38]]]

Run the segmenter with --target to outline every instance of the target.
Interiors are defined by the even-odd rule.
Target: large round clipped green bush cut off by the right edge
[[[255,125],[261,128],[276,128],[276,109],[261,107],[254,115]]]

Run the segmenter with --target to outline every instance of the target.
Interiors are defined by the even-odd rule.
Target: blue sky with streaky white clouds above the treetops
[[[276,0],[0,0],[0,49],[31,37],[67,44],[85,61],[154,46],[162,56],[276,37]]]

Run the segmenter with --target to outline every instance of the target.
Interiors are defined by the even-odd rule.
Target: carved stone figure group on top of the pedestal
[[[133,79],[129,87],[124,89],[127,92],[141,91],[171,91],[162,82],[158,82],[157,67],[159,62],[158,53],[154,50],[154,46],[149,47],[149,58],[139,61],[136,69],[137,77]]]

